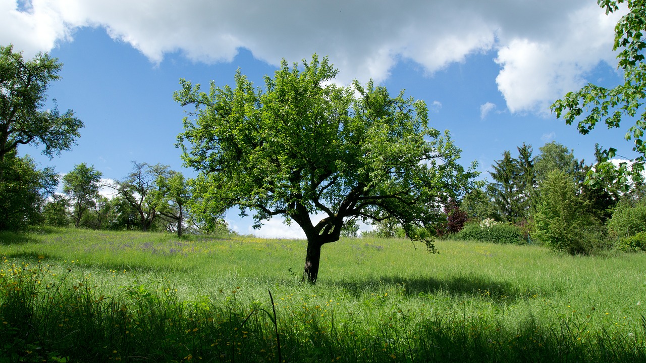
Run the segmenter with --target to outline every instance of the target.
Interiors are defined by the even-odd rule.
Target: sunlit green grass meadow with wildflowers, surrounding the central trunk
[[[309,285],[305,247],[0,234],[0,362],[646,362],[644,253],[349,238]]]

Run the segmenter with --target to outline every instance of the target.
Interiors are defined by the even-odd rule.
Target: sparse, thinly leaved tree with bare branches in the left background
[[[167,165],[132,161],[132,171],[118,182],[117,193],[136,211],[136,221],[141,231],[149,231],[154,225],[158,200],[153,194],[157,189],[157,178],[167,169]]]

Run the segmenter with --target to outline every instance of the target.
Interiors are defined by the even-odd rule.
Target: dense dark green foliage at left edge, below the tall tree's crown
[[[19,158],[12,150],[0,160],[0,231],[25,229],[41,222],[41,207],[54,192],[54,169],[37,169],[29,156]]]

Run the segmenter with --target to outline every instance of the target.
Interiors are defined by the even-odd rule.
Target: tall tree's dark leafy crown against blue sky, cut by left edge
[[[59,79],[61,67],[47,53],[25,60],[12,45],[0,46],[0,161],[18,145],[43,145],[43,154],[50,158],[74,145],[83,127],[74,112],[60,114],[56,103],[42,110],[45,92]]]

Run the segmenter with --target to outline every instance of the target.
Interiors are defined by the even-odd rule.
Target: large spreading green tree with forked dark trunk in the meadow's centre
[[[433,225],[476,175],[457,163],[448,132],[428,127],[423,101],[393,98],[372,82],[339,87],[336,74],[314,55],[302,68],[283,60],[264,91],[238,70],[235,88],[211,82],[206,93],[182,79],[174,94],[194,107],[178,145],[199,172],[195,192],[213,213],[253,211],[256,227],[276,215],[298,223],[311,283],[322,245],[339,240],[344,220],[392,219],[406,231]],[[313,223],[314,213],[324,218]],[[435,251],[432,240],[408,235]]]

